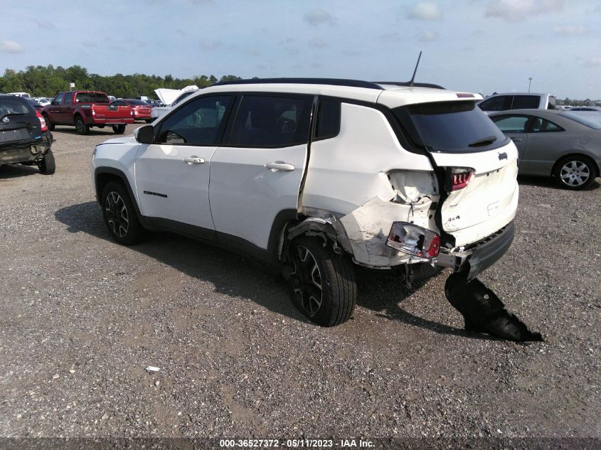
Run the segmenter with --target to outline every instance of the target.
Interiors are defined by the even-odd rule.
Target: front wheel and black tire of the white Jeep
[[[120,181],[110,181],[100,195],[102,217],[112,238],[121,245],[134,245],[144,240],[146,232],[139,223],[127,189]]]

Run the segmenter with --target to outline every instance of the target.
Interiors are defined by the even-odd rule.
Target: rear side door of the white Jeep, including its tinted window
[[[313,97],[245,94],[227,146],[211,159],[211,211],[220,242],[267,250],[280,213],[297,211]]]

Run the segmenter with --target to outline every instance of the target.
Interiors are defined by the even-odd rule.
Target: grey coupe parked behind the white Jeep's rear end
[[[600,175],[601,124],[570,111],[517,109],[489,116],[518,148],[519,173],[584,189]]]

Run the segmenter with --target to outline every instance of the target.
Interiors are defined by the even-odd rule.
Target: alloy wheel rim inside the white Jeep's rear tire
[[[294,295],[307,315],[315,316],[321,308],[324,294],[317,260],[307,247],[298,245],[292,252],[292,261],[294,272],[291,274],[291,281]]]

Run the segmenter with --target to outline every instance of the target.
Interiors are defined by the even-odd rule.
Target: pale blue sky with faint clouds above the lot
[[[0,0],[0,70],[417,80],[601,98],[601,1]]]

